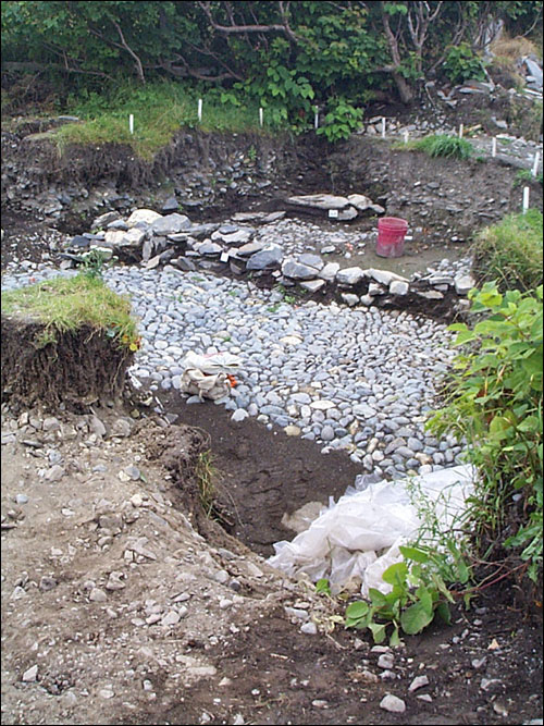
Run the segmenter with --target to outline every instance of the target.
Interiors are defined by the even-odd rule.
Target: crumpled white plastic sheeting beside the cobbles
[[[292,542],[276,542],[268,562],[290,576],[327,578],[333,592],[354,578],[361,580],[364,596],[369,588],[387,592],[391,586],[382,575],[401,559],[399,545],[421,527],[418,513],[432,508],[441,531],[450,530],[473,491],[474,478],[474,468],[463,465],[413,477],[410,485],[408,480],[382,480],[361,491],[357,485],[364,477],[358,477],[356,488],[332,502],[306,531]],[[412,504],[415,495],[408,489],[421,501]]]

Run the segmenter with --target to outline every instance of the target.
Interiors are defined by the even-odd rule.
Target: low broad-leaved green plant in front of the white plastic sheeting
[[[455,545],[449,563],[432,547],[407,545],[399,550],[404,562],[391,565],[382,576],[391,586],[390,592],[369,588],[370,603],[356,601],[348,605],[345,620],[346,628],[368,628],[376,643],[385,640],[392,627],[392,647],[400,644],[401,632],[417,635],[436,616],[449,623],[454,598],[447,585],[469,580],[469,570]]]

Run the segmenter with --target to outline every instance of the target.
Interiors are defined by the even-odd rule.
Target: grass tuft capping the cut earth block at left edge
[[[57,340],[57,333],[89,327],[137,349],[136,322],[131,303],[110,290],[100,278],[79,273],[54,278],[20,290],[3,292],[3,315],[17,315],[45,324],[40,344]]]

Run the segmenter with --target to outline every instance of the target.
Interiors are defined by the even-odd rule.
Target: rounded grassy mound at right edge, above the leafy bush
[[[472,245],[473,273],[479,283],[497,281],[500,291],[533,290],[542,284],[542,212],[509,214],[485,227]]]

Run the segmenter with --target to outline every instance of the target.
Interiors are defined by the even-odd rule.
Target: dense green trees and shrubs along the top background
[[[298,132],[311,127],[311,101],[359,108],[398,78],[415,90],[448,45],[450,77],[480,76],[470,44],[482,28],[502,19],[522,33],[542,11],[537,2],[7,0],[1,12],[2,90],[20,88],[21,104],[37,85],[61,110],[70,93],[173,78],[201,95],[236,97],[242,87],[269,109],[271,125]]]

